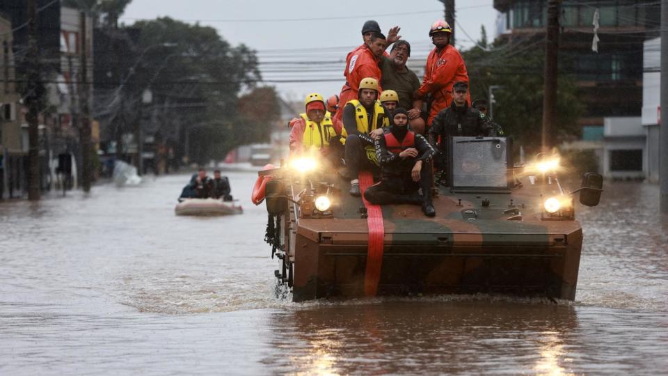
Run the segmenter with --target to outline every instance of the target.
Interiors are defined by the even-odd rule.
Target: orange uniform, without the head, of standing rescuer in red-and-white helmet
[[[431,120],[434,120],[436,114],[450,106],[452,85],[456,81],[466,81],[468,83],[466,65],[459,51],[452,45],[447,45],[440,52],[436,48],[432,49],[429,52],[429,57],[427,57],[427,65],[424,67],[422,86],[417,89],[419,97],[424,97],[428,93],[431,93],[434,97],[434,102],[431,102],[431,112],[429,112],[427,124],[431,124]],[[468,102],[469,104],[471,102],[470,90]]]

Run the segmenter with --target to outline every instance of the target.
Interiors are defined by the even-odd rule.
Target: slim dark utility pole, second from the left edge
[[[84,192],[90,191],[90,108],[88,107],[88,39],[86,38],[86,13],[81,12],[81,127],[79,143],[81,143],[81,186]]]

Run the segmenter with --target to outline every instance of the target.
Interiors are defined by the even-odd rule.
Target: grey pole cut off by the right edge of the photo
[[[661,1],[661,124],[659,125],[659,204],[668,214],[668,0]]]

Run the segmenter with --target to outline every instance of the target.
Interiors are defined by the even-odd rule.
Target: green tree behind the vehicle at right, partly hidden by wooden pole
[[[488,100],[490,86],[494,91],[493,117],[504,132],[513,136],[517,146],[534,151],[541,146],[543,106],[543,57],[541,39],[495,42],[488,50],[477,47],[463,52],[471,81],[471,97]],[[560,61],[560,63],[562,63]],[[563,68],[563,67],[562,67]],[[578,118],[584,104],[578,100],[575,80],[569,72],[559,72],[557,93],[557,127],[550,135],[561,143],[580,134]]]

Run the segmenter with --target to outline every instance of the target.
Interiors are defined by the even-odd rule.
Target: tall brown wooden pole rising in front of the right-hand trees
[[[552,128],[557,113],[557,51],[559,49],[559,1],[548,0],[548,26],[545,33],[545,85],[543,86],[543,152],[552,147]]]

